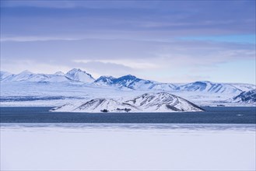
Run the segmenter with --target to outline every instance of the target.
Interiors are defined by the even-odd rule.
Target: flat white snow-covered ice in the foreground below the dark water
[[[255,170],[254,124],[2,124],[1,170]]]

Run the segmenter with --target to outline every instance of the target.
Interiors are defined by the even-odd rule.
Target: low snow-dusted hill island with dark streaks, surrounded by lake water
[[[168,92],[151,92],[133,99],[91,99],[86,103],[65,104],[54,107],[51,111],[58,112],[181,112],[203,111],[202,108],[186,99]]]

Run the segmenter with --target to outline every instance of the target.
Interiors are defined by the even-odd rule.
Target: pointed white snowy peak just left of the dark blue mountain
[[[88,74],[87,72],[82,71],[81,69],[72,69],[65,74],[68,79],[77,81],[77,82],[94,82],[92,75]]]

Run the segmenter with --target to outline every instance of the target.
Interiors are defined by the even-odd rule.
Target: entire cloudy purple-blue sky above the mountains
[[[1,71],[256,84],[255,1],[1,0]]]

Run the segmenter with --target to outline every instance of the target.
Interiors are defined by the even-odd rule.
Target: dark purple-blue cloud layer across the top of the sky
[[[255,2],[247,1],[4,1],[2,4],[1,30],[5,37],[68,35],[73,38],[93,33],[97,38],[110,35],[112,38],[163,40],[255,33]]]

